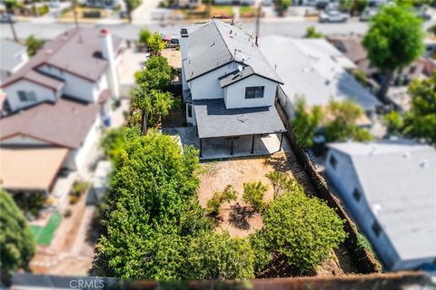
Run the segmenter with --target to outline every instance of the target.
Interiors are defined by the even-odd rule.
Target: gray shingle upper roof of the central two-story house
[[[252,74],[282,83],[279,74],[243,29],[212,20],[189,34],[188,58],[183,60],[188,82],[233,61],[249,66]],[[227,80],[226,83],[233,82]]]

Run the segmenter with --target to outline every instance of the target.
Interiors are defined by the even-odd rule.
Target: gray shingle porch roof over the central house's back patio
[[[200,139],[286,131],[274,106],[226,109],[218,99],[194,101],[193,108]]]

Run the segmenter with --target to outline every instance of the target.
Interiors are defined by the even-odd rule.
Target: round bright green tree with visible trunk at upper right
[[[362,43],[373,66],[384,73],[379,97],[385,101],[393,73],[418,58],[423,50],[421,19],[403,5],[385,5],[372,17]]]

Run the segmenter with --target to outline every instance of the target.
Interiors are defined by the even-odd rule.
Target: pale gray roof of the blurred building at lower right
[[[436,257],[436,150],[406,140],[329,147],[352,160],[363,195],[399,256]]]

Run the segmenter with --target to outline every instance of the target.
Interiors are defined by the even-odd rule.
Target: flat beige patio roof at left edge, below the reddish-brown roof
[[[0,148],[1,187],[49,189],[67,153],[65,148]]]

